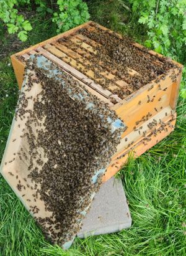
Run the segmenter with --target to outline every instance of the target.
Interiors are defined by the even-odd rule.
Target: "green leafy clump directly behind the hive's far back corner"
[[[67,31],[89,19],[88,7],[82,0],[58,0],[60,12],[55,12],[53,21],[58,25],[57,32]]]

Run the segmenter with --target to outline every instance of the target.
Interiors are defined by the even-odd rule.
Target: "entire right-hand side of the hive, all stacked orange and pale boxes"
[[[172,82],[171,75],[173,74],[177,74],[175,82]],[[112,162],[107,168],[103,182],[110,179],[122,168],[130,154],[133,154],[134,158],[140,156],[174,130],[176,118],[175,107],[179,96],[181,77],[182,72],[178,73],[178,70],[170,70],[164,80],[160,80],[159,83],[151,83],[153,85],[151,90],[149,90],[151,86],[148,85],[148,88],[145,86],[132,95],[130,100],[123,100],[122,106],[117,104],[117,106],[115,105],[113,107],[117,111],[118,116],[122,120],[125,120],[128,129],[122,135],[118,151],[114,154]],[[159,100],[160,98],[161,100]],[[153,102],[151,102],[151,99]],[[151,113],[151,116],[146,121],[136,125],[136,121],[139,121],[142,115],[146,116],[147,113]],[[146,123],[151,123],[152,120],[157,120],[157,125],[153,129],[147,128]],[[162,131],[158,130],[161,127],[160,120],[166,124]],[[141,130],[139,129],[140,126]],[[144,126],[147,128],[145,135],[143,135]],[[157,133],[152,133],[150,141],[144,141],[144,137],[151,134],[154,129],[157,130]],[[136,133],[138,133],[138,136],[136,136]]]

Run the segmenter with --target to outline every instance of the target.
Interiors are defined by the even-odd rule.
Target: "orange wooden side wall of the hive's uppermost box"
[[[125,121],[126,126],[128,126],[122,138],[143,125],[144,118],[148,120],[152,116],[156,116],[167,106],[170,106],[172,110],[175,108],[179,95],[181,73],[179,73],[176,82],[172,82],[171,76],[174,73],[177,74],[178,70],[169,70],[164,80],[145,85],[138,92],[130,95],[129,99],[126,98],[122,103],[113,107],[119,118]]]

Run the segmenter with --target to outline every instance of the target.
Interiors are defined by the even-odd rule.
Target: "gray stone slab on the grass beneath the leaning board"
[[[109,234],[129,227],[131,227],[131,216],[122,181],[111,178],[95,195],[78,237]]]

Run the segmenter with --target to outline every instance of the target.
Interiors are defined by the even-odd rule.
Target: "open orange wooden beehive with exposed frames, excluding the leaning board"
[[[78,79],[127,126],[103,181],[174,130],[181,64],[91,21],[12,55],[19,88],[30,54]]]

